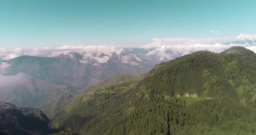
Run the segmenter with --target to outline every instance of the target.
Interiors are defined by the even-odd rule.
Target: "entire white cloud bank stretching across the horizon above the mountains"
[[[210,30],[210,32],[220,33],[220,31],[215,30]],[[253,43],[248,44],[248,42],[246,42],[248,40],[253,41]],[[244,42],[237,43],[235,41]],[[137,48],[146,51],[144,56],[154,56],[158,58],[159,61],[164,61],[199,50],[221,52],[232,46],[243,46],[255,51],[255,47],[253,47],[253,45],[256,45],[255,41],[256,35],[246,34],[222,38],[154,38],[151,43],[141,45]],[[117,55],[118,59],[123,63],[137,65],[138,62],[141,62],[138,54],[123,55],[122,53],[124,53],[126,49],[127,48],[125,47],[106,45],[64,45],[56,48],[45,47],[30,49],[0,48],[0,56],[2,55],[2,58],[5,60],[21,55],[56,57],[58,55],[65,54],[73,58],[74,56],[71,52],[77,52],[82,55],[82,60],[80,60],[82,64],[87,64],[89,61],[95,61],[95,63],[98,64],[107,63],[109,59],[112,58],[112,55]]]

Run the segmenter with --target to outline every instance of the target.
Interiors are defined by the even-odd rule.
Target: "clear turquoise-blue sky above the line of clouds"
[[[153,38],[252,35],[255,5],[255,0],[0,0],[0,48],[139,46]]]

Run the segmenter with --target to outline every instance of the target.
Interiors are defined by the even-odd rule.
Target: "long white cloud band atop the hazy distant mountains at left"
[[[115,46],[96,46],[96,45],[64,45],[56,48],[31,48],[31,49],[0,49],[0,54],[3,55],[4,60],[9,60],[21,55],[31,55],[39,56],[45,55],[48,57],[56,57],[58,55],[64,54],[69,55],[71,58],[74,58],[73,55],[70,55],[71,52],[77,52],[83,56],[81,63],[86,63],[86,61],[94,60],[98,63],[107,63],[109,58],[113,54],[120,56],[124,51],[123,48],[118,48]]]

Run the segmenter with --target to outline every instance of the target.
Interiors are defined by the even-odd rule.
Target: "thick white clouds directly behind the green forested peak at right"
[[[144,45],[141,48],[150,49],[146,54],[148,56],[156,56],[160,61],[164,59],[172,59],[181,55],[187,55],[189,53],[207,50],[213,52],[221,52],[233,46],[243,46],[253,49],[255,47],[249,47],[250,44],[235,44],[234,41],[240,40],[253,40],[256,39],[256,35],[238,35],[223,38],[165,38],[165,39],[152,39],[152,42],[148,45]],[[231,42],[229,44],[223,44]],[[252,43],[254,45],[255,43]]]

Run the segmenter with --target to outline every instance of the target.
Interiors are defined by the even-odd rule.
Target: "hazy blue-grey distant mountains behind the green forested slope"
[[[109,58],[106,63],[105,58]],[[109,57],[101,54],[97,55],[98,61],[95,59],[84,59],[82,55],[71,52],[53,58],[24,55],[0,61],[0,77],[9,80],[0,85],[0,100],[40,108],[63,93],[79,93],[112,75],[138,75],[156,64],[135,55],[121,57],[112,54]]]

